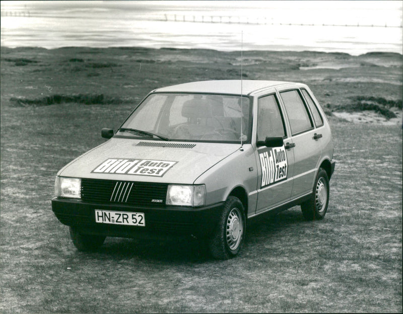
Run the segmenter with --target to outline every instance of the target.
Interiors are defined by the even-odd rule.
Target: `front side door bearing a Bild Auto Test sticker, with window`
[[[291,142],[283,112],[276,93],[257,100],[256,141],[266,137],[282,136],[284,143]],[[294,152],[282,147],[261,146],[256,150],[258,167],[256,213],[288,201],[293,186]]]

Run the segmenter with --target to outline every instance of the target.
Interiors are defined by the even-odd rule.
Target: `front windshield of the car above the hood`
[[[244,96],[156,93],[133,111],[118,134],[133,136],[135,133],[140,137],[168,140],[246,142],[251,133],[250,112],[250,100]]]

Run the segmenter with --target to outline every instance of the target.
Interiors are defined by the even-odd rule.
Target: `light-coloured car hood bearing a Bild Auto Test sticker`
[[[66,165],[59,176],[192,184],[239,144],[111,138]]]

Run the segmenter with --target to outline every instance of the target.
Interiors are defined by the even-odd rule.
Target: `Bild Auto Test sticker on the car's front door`
[[[259,151],[261,188],[287,179],[288,162],[284,146]]]

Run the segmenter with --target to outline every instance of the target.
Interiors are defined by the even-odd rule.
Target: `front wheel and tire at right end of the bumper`
[[[242,247],[245,232],[246,219],[243,205],[237,197],[229,196],[209,242],[211,255],[220,260],[228,260],[236,256]]]

